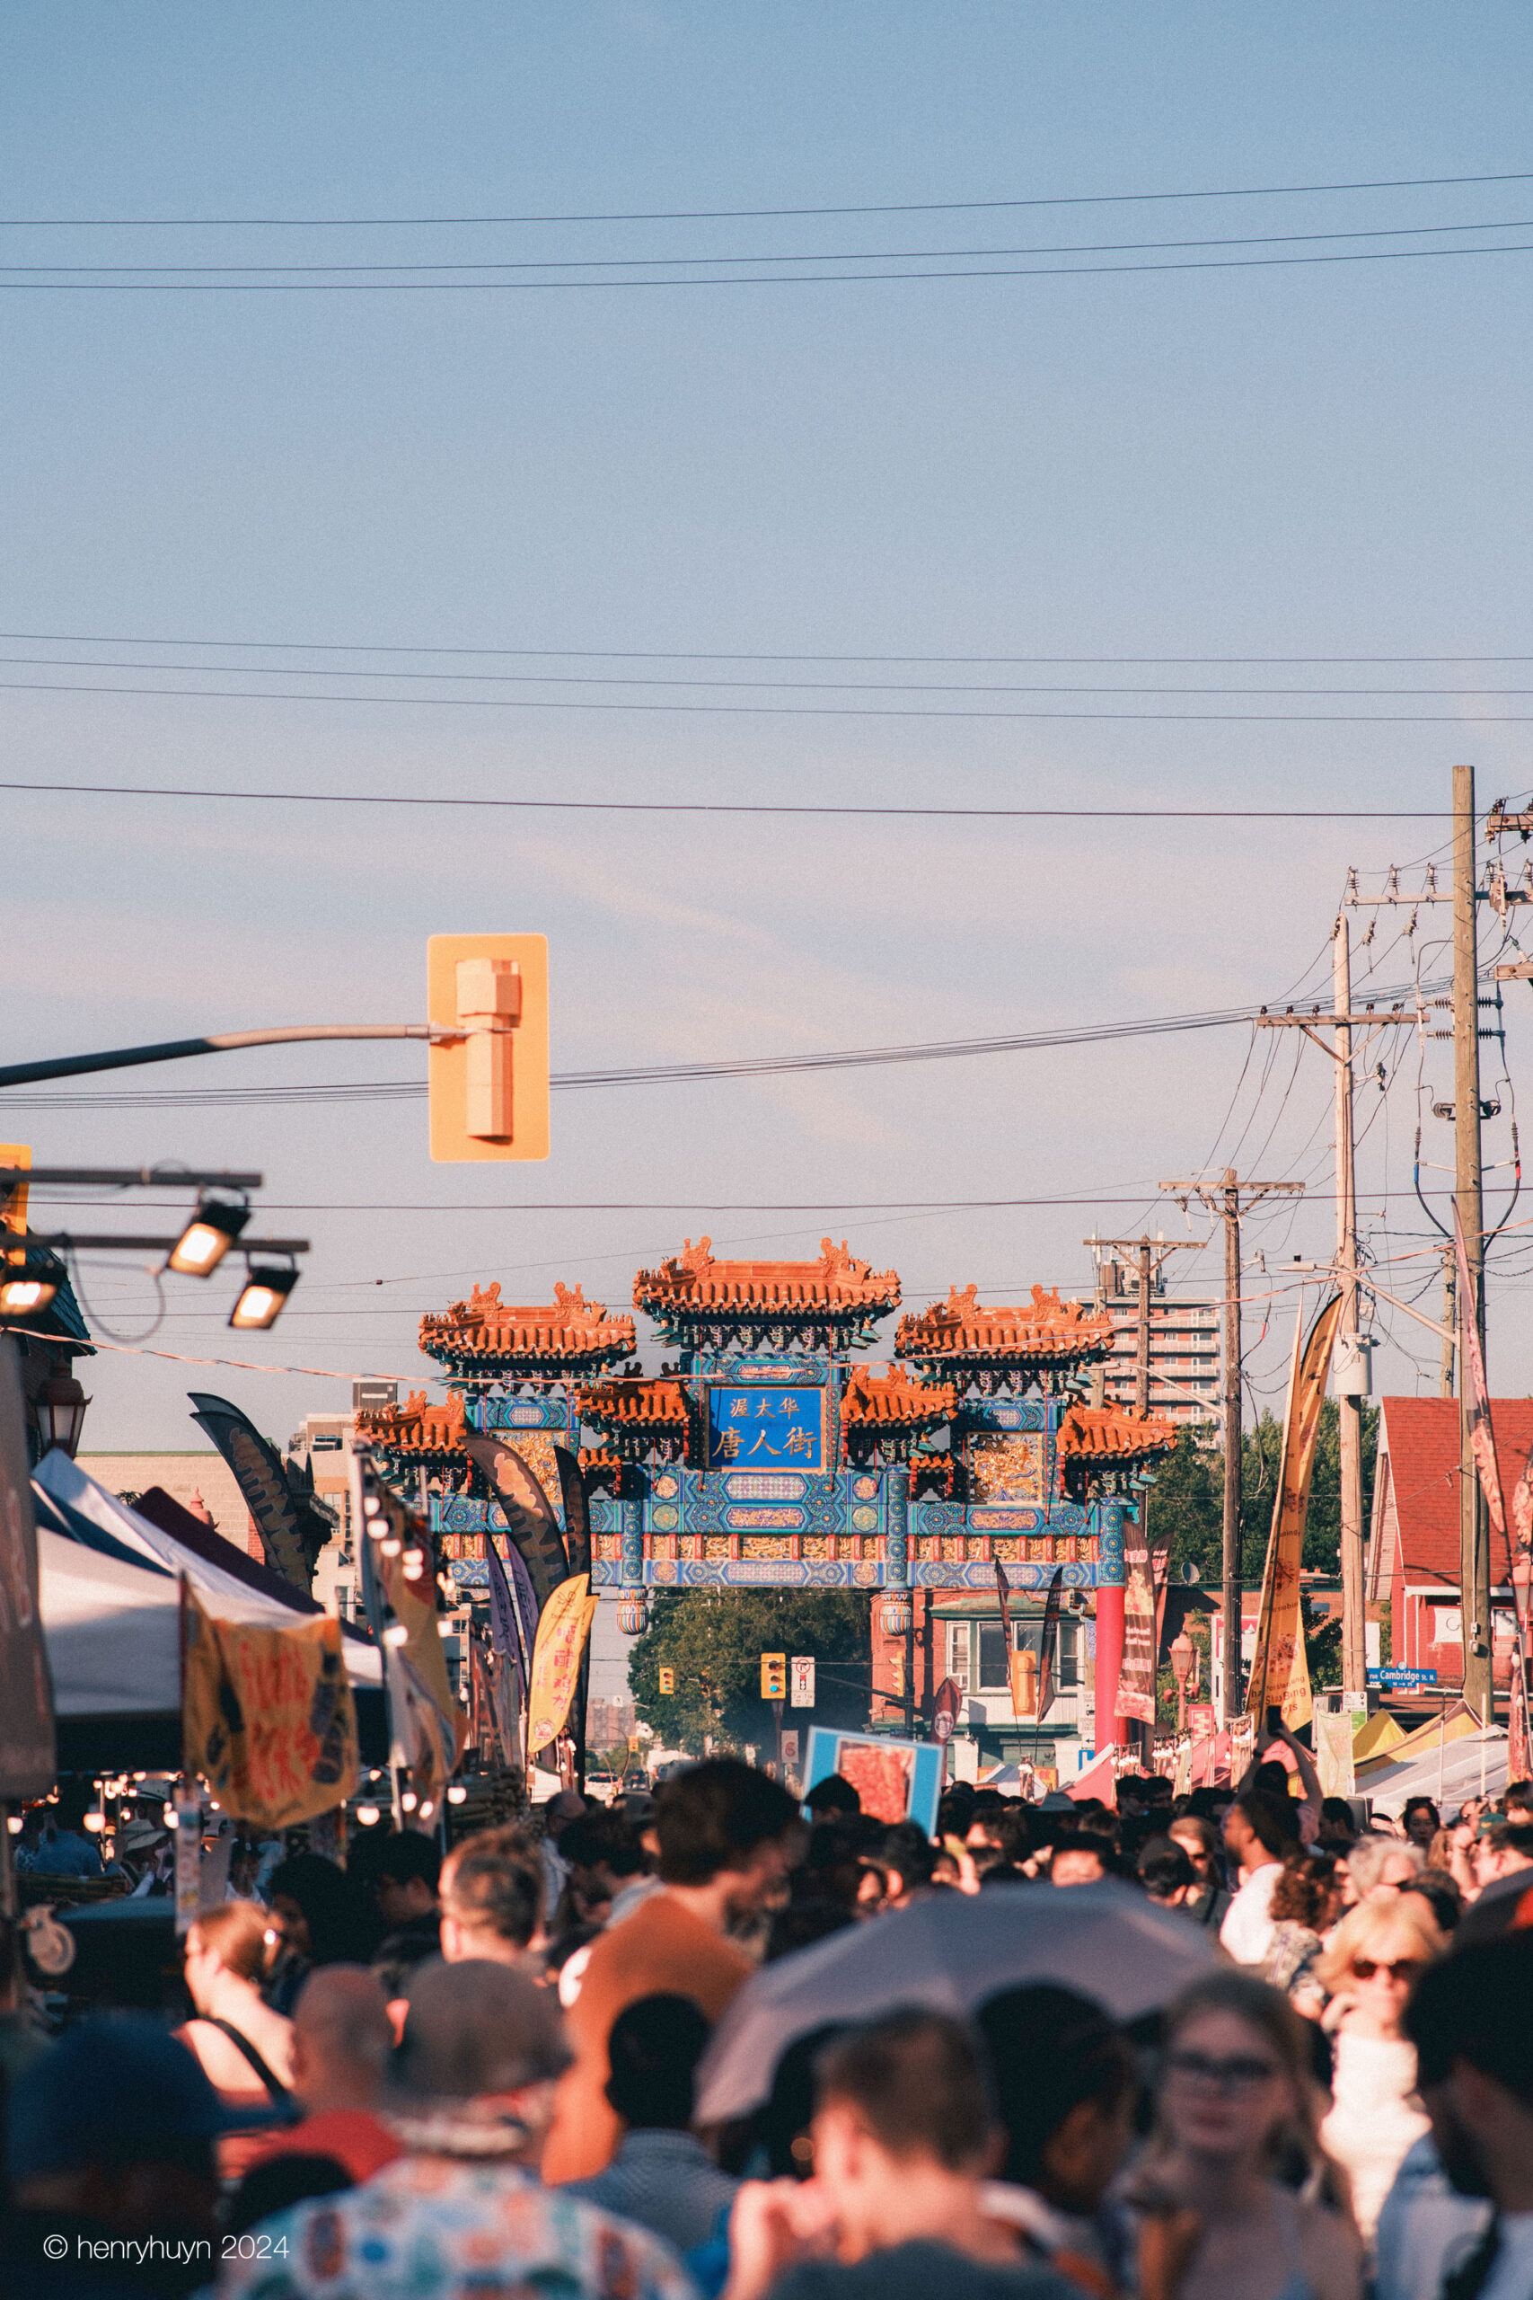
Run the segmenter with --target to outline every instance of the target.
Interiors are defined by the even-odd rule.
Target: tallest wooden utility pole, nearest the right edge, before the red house
[[[1473,1318],[1485,1357],[1485,1212],[1480,1205],[1480,968],[1476,938],[1476,770],[1453,768],[1453,1145]],[[1492,1723],[1489,1527],[1471,1447],[1469,1366],[1459,1366],[1459,1624],[1464,1700]]]

